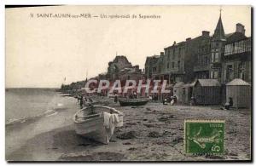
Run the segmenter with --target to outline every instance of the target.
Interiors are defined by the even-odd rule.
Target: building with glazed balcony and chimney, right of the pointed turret
[[[222,83],[241,78],[247,83],[252,82],[252,49],[251,37],[244,34],[244,26],[236,24],[236,32],[227,37],[222,63]]]

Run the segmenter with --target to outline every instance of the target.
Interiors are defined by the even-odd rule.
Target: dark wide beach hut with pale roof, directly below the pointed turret
[[[220,104],[221,85],[217,79],[198,79],[194,85],[194,97],[199,105]]]

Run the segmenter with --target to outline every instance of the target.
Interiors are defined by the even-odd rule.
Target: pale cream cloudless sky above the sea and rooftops
[[[6,9],[6,88],[58,88],[107,72],[116,54],[144,68],[147,56],[174,41],[214,31],[220,6],[55,6]],[[245,26],[250,6],[221,6],[224,32]],[[43,14],[91,14],[91,18],[43,18]],[[129,19],[101,15],[130,15]],[[137,18],[131,18],[135,14]],[[160,15],[141,19],[139,14]],[[32,17],[33,15],[33,17]],[[88,74],[86,74],[88,73]],[[66,77],[66,80],[64,79]]]

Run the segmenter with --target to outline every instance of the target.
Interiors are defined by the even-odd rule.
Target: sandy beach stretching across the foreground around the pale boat
[[[76,135],[72,117],[79,106],[71,99],[57,114],[6,125],[9,161],[198,161],[249,160],[250,119],[247,109],[219,110],[220,106],[123,106],[113,99],[99,104],[125,113],[108,145]],[[183,152],[184,119],[225,120],[225,154],[195,156]]]

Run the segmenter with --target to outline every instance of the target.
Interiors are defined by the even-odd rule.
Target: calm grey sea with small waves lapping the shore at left
[[[69,99],[68,99],[69,98]],[[55,89],[5,89],[5,123],[55,115],[58,108],[75,102]]]

